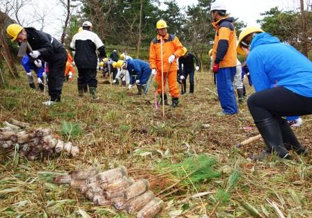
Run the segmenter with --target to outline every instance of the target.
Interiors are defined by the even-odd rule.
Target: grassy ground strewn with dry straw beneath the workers
[[[99,84],[100,103],[91,103],[89,96],[77,98],[76,83],[65,83],[62,102],[46,108],[41,103],[47,95],[30,90],[26,78],[7,80],[10,85],[0,90],[0,121],[14,117],[32,128],[51,127],[64,141],[79,146],[81,154],[28,161],[0,149],[0,217],[75,217],[77,213],[127,217],[110,207],[93,206],[66,185],[52,184],[49,172],[125,165],[130,176],[149,178],[157,194],[180,181],[169,169],[159,169],[162,163],[202,153],[217,160],[215,169],[221,176],[194,185],[185,183],[184,176],[185,181],[159,194],[166,201],[159,217],[201,217],[212,211],[216,211],[212,217],[312,217],[311,156],[252,162],[249,156],[265,148],[262,141],[235,149],[238,142],[258,134],[246,104],[238,115],[221,115],[216,97],[205,89],[215,90],[211,75],[203,72],[196,77],[195,93],[180,97],[179,108],[166,108],[166,119],[162,110],[154,110],[153,92],[138,97],[136,89],[126,92],[123,87]],[[303,119],[295,132],[312,149],[311,117]],[[63,121],[80,126],[81,134],[64,135]],[[239,180],[231,184],[235,171]],[[203,195],[194,196],[197,192]]]

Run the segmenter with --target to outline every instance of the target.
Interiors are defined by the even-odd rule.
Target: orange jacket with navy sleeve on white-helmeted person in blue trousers
[[[236,66],[236,33],[233,17],[222,17],[212,23],[216,29],[212,58],[220,68]]]

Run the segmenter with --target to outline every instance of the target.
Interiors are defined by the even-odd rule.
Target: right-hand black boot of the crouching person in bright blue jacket
[[[292,129],[290,128],[288,122],[285,119],[279,119],[279,128],[281,129],[281,135],[283,137],[284,146],[288,151],[293,150],[299,155],[305,156],[308,151],[300,144],[297,137]]]

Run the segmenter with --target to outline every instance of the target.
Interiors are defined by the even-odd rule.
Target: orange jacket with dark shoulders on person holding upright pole
[[[176,35],[167,33],[166,36],[162,37],[162,40],[162,60],[164,62],[164,72],[168,72],[169,70],[170,64],[168,59],[172,54],[176,56],[176,60],[171,63],[170,71],[176,71],[178,69],[177,58],[182,56],[183,46]],[[157,34],[157,37],[150,42],[150,68],[155,68],[157,72],[161,72],[162,60],[160,56],[160,35]]]

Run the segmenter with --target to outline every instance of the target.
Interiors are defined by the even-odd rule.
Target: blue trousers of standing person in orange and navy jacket
[[[217,73],[217,91],[221,108],[226,115],[237,113],[237,104],[233,88],[236,67],[219,68]]]

